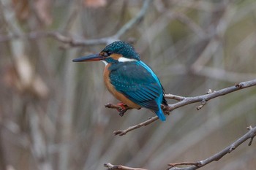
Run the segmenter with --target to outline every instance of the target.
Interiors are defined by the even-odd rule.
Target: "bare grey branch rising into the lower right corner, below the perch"
[[[205,160],[198,161],[198,162],[183,162],[183,163],[169,163],[170,169],[169,170],[195,170],[199,169],[200,167],[206,166],[208,163],[211,163],[213,161],[219,161],[223,156],[227,155],[227,153],[232,152],[235,150],[240,144],[246,142],[246,140],[250,139],[249,146],[252,144],[252,139],[256,136],[256,126],[252,128],[252,126],[248,127],[249,131],[244,134],[244,136],[241,136],[241,138],[237,139],[236,142],[233,142],[233,144],[230,144],[228,147],[226,147],[224,150],[217,152],[217,154],[212,155],[209,158],[206,158]],[[178,168],[176,166],[180,165],[191,165],[189,167],[185,168]]]

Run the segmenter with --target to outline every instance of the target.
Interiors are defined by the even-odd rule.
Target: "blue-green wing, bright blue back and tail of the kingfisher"
[[[163,98],[162,85],[157,75],[142,61],[116,63],[109,67],[110,82],[118,90],[127,96],[129,100],[141,107],[154,110],[163,115],[160,104]],[[164,118],[161,120],[165,120]]]

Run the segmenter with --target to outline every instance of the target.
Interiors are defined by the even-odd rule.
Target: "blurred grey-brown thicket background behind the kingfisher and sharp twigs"
[[[135,46],[166,93],[199,96],[255,79],[254,0],[0,0],[0,169],[94,170],[108,162],[167,169],[208,158],[256,125],[252,87],[113,135],[154,114],[106,109],[118,101],[102,81],[104,64],[72,63],[106,44],[74,46],[49,32],[66,40],[112,36],[143,3],[146,15],[118,38]],[[255,142],[247,144],[202,169],[256,169]]]

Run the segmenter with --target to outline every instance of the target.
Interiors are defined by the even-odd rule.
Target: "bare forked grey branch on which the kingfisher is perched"
[[[219,96],[224,96],[228,93],[232,93],[234,91],[241,90],[241,89],[244,89],[244,88],[249,88],[249,87],[252,87],[252,86],[255,86],[255,85],[256,85],[256,80],[250,80],[250,81],[247,81],[247,82],[240,82],[240,83],[238,83],[236,85],[233,85],[229,88],[223,88],[222,90],[217,90],[217,91],[208,90],[208,93],[206,95],[195,96],[195,97],[181,97],[181,96],[178,96],[178,98],[180,98],[180,99],[183,98],[183,100],[178,101],[175,104],[169,104],[167,107],[162,106],[162,109],[164,110],[165,115],[169,115],[169,113],[171,111],[173,111],[174,109],[177,109],[179,107],[183,107],[183,106],[188,105],[188,104],[197,103],[197,102],[201,102],[200,106],[197,107],[197,109],[198,108],[202,109],[202,107],[204,105],[206,105],[207,101],[211,100],[212,98],[217,98]],[[165,95],[165,98],[173,98],[173,95],[167,94],[167,95]],[[142,126],[153,123],[155,120],[158,120],[157,116],[151,117],[149,120],[146,120],[143,123],[139,123],[138,125],[132,125],[132,126],[130,126],[129,128],[127,128],[125,130],[114,131],[113,134],[123,136],[123,135],[127,134],[127,132],[129,132],[129,131],[133,131],[133,130],[135,130],[137,128],[140,128]]]

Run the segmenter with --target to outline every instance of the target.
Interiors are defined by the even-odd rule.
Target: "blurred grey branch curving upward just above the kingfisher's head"
[[[120,36],[124,35],[129,31],[130,28],[135,26],[136,23],[140,22],[143,19],[146,11],[153,0],[145,0],[143,2],[143,7],[138,12],[134,18],[129,20],[124,26],[122,26],[116,34],[112,36],[106,36],[99,39],[78,39],[77,37],[72,36],[64,36],[64,34],[59,33],[58,31],[32,31],[27,34],[10,34],[10,35],[0,35],[0,42],[10,41],[12,39],[37,39],[42,37],[50,37],[56,39],[59,42],[70,45],[72,47],[78,46],[87,46],[87,45],[108,45],[111,42],[114,42],[120,38]]]

